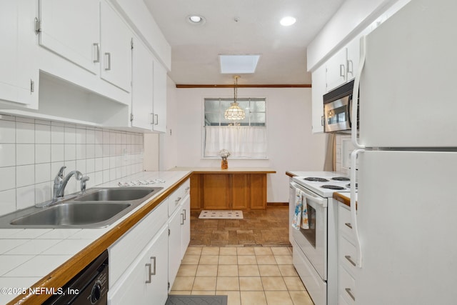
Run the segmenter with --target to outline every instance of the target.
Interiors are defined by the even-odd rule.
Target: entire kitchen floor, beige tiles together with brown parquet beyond
[[[229,296],[228,305],[312,305],[292,264],[288,207],[243,212],[243,219],[198,219],[170,294]]]

